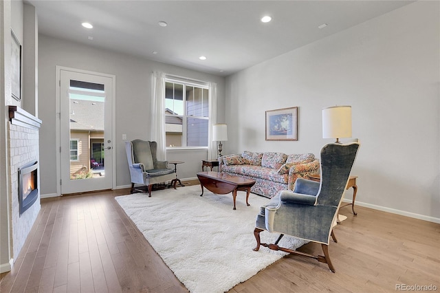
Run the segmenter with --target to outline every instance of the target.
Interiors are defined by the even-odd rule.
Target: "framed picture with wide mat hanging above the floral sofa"
[[[298,107],[266,111],[266,140],[298,140]]]

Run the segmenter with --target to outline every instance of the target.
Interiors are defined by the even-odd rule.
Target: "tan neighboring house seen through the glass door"
[[[104,102],[70,100],[70,142],[71,174],[104,169]]]

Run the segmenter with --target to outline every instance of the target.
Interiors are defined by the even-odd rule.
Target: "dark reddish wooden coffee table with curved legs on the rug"
[[[250,180],[242,177],[236,177],[231,175],[226,175],[220,172],[200,172],[197,173],[197,177],[200,181],[201,195],[203,195],[203,187],[219,195],[225,195],[232,192],[232,197],[234,199],[234,210],[235,199],[237,191],[246,191],[246,204],[248,203],[250,188],[254,186],[255,180]]]

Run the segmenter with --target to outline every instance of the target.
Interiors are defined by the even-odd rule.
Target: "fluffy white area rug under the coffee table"
[[[206,189],[203,197],[200,193],[200,186],[185,186],[154,191],[152,197],[115,197],[190,292],[228,291],[287,254],[262,246],[258,252],[252,250],[256,215],[269,199],[251,193],[246,206],[246,193],[239,191],[232,210],[232,194],[214,195]],[[262,242],[273,243],[277,237],[261,232]],[[305,243],[285,236],[280,246],[296,249]]]

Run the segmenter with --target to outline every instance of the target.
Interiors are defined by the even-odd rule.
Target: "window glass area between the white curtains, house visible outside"
[[[166,146],[207,147],[208,124],[208,87],[166,80]]]

